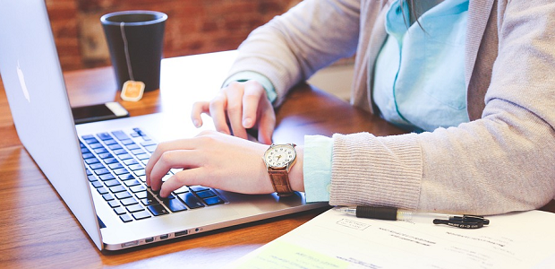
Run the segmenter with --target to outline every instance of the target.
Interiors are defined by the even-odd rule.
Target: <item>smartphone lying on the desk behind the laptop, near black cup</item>
[[[101,120],[129,117],[129,112],[118,102],[72,108],[76,125]]]

